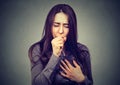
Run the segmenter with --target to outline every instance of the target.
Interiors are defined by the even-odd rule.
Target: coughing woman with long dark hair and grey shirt
[[[93,85],[88,48],[77,42],[77,20],[67,4],[48,13],[42,39],[29,49],[32,85]]]

